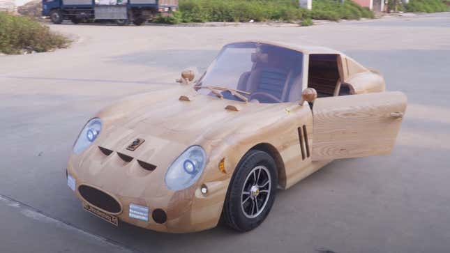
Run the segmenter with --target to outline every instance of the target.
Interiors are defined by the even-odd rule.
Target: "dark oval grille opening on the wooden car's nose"
[[[110,194],[102,192],[88,185],[80,185],[78,187],[80,195],[92,206],[96,206],[110,213],[120,213],[121,206],[119,202]]]

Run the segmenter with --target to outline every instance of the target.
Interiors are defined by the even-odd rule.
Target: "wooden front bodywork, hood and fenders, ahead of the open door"
[[[193,92],[193,93],[192,93]],[[190,101],[179,100],[188,95]],[[225,109],[227,106],[239,111]],[[119,116],[117,116],[119,115]],[[136,95],[102,110],[103,130],[87,151],[72,154],[68,173],[80,184],[95,185],[119,199],[123,206],[119,220],[157,231],[184,233],[215,227],[230,178],[243,155],[257,145],[273,147],[278,153],[279,185],[297,183],[299,171],[308,168],[310,158],[301,160],[298,128],[313,132],[313,115],[308,105],[257,104],[200,95],[186,85],[165,92]],[[145,141],[135,151],[127,147],[140,138]],[[308,143],[313,141],[308,135]],[[173,191],[165,185],[170,164],[186,148],[200,145],[207,153],[201,178],[185,190]],[[98,148],[113,151],[105,155]],[[126,162],[119,153],[133,160]],[[224,174],[218,164],[225,159]],[[138,162],[154,164],[143,169]],[[208,194],[195,194],[200,186],[213,185]],[[77,196],[80,194],[77,192]],[[128,217],[128,205],[161,208],[167,222],[142,222]]]

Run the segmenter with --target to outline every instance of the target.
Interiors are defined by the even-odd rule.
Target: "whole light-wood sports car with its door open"
[[[85,210],[183,233],[260,225],[276,189],[334,159],[384,155],[407,98],[379,72],[322,47],[225,45],[195,80],[115,102],[84,126],[68,162]]]

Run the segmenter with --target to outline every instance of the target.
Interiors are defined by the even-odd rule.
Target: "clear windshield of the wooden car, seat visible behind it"
[[[223,47],[197,86],[199,92],[225,99],[277,103],[301,99],[303,54],[261,43],[234,43]],[[220,87],[216,92],[211,88]],[[226,88],[226,89],[223,89]],[[233,91],[227,90],[232,89]]]

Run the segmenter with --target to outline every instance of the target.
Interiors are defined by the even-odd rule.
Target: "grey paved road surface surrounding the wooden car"
[[[450,14],[300,27],[59,25],[70,49],[0,57],[0,252],[449,252]],[[278,192],[255,231],[114,228],[81,209],[64,168],[100,107],[173,85],[234,40],[340,49],[410,104],[389,156],[338,160]]]

